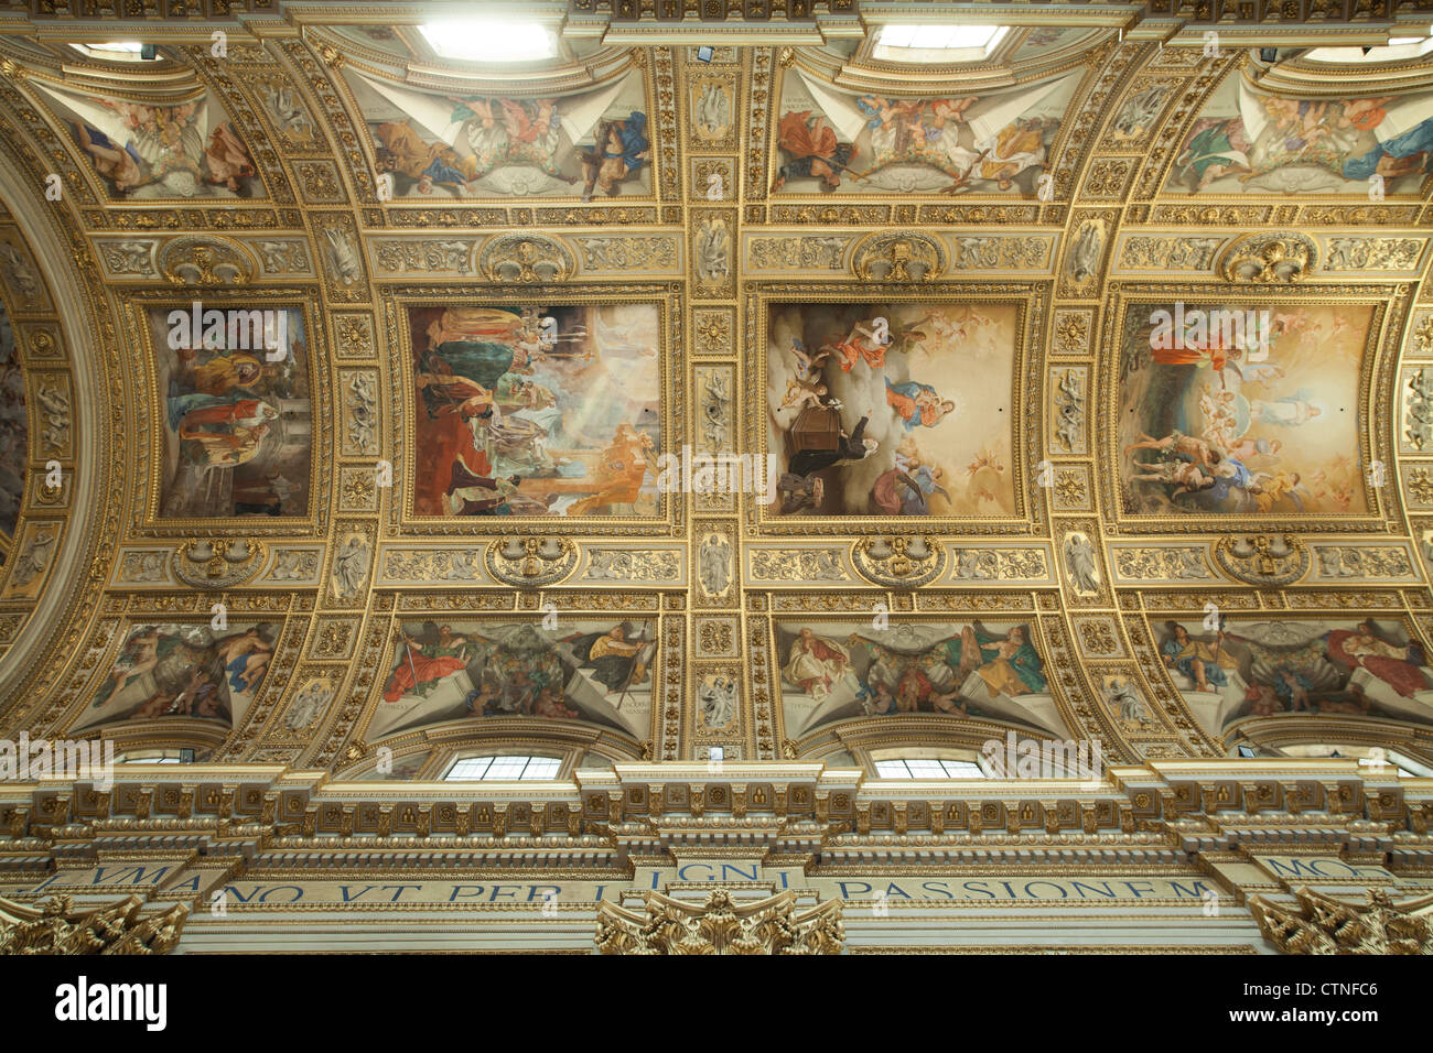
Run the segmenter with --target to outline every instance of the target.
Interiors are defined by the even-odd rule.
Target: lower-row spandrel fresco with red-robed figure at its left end
[[[651,622],[404,622],[367,735],[496,716],[586,721],[649,735]]]

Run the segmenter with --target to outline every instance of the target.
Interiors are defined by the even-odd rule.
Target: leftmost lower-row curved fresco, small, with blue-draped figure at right
[[[75,729],[176,716],[232,726],[264,682],[278,630],[267,622],[136,626]]]

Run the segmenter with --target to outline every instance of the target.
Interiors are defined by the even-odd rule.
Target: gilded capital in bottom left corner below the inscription
[[[182,903],[140,917],[138,895],[87,911],[73,903],[54,895],[36,908],[0,898],[0,954],[168,954],[189,917]]]

